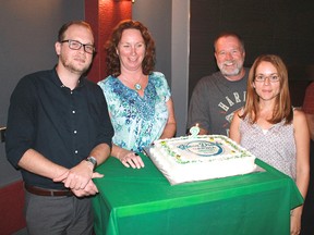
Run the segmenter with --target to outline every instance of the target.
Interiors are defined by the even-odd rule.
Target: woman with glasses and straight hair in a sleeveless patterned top
[[[310,135],[301,110],[291,107],[288,72],[275,54],[253,63],[246,102],[234,113],[230,138],[289,175],[305,198],[310,178]],[[300,234],[303,206],[291,211],[291,234]]]

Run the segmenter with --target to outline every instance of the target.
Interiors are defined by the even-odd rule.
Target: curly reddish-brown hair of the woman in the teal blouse
[[[142,62],[143,73],[145,75],[150,74],[155,67],[156,52],[155,52],[155,41],[150,36],[147,27],[145,27],[141,22],[126,20],[120,22],[113,29],[111,38],[107,41],[105,50],[107,53],[106,64],[107,64],[107,74],[119,76],[121,74],[120,60],[117,54],[117,48],[121,40],[122,33],[124,29],[134,28],[141,32],[141,35],[145,42],[145,58]]]

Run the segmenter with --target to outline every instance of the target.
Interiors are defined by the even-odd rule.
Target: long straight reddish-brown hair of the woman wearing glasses
[[[291,109],[291,100],[289,94],[288,71],[283,61],[280,59],[280,57],[276,54],[263,54],[255,59],[249,73],[247,87],[246,87],[246,102],[244,106],[243,114],[240,115],[240,118],[244,119],[245,116],[247,116],[250,122],[252,123],[256,123],[257,121],[257,115],[259,112],[258,109],[259,97],[255,91],[254,81],[256,75],[256,67],[263,61],[269,62],[276,67],[280,83],[280,91],[276,97],[276,102],[273,110],[273,116],[270,120],[267,121],[269,123],[276,124],[285,119],[286,120],[285,124],[289,124],[293,119],[293,111]]]

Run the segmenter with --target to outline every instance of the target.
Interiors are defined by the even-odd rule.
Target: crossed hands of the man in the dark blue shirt
[[[53,178],[53,182],[62,182],[64,187],[71,189],[84,189],[93,177],[102,177],[104,175],[93,172],[93,165],[83,160],[74,168],[64,172],[57,178]]]

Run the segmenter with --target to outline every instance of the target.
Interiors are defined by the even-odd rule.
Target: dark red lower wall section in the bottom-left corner
[[[26,226],[22,181],[0,188],[0,234],[9,235]]]

